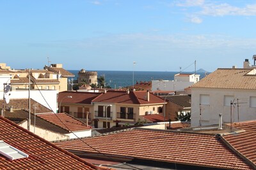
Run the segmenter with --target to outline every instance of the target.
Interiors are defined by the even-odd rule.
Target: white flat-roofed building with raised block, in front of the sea
[[[179,91],[199,81],[200,74],[175,74],[174,80],[152,80],[152,91]]]

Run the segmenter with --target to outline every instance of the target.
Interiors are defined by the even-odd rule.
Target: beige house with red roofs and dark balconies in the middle
[[[88,113],[88,124],[106,128],[116,124],[134,125],[143,121],[144,115],[163,113],[164,100],[146,91],[109,90],[104,93],[61,92],[58,103],[60,112],[70,113],[83,122]]]

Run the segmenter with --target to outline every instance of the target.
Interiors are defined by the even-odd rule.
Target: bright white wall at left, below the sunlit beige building
[[[42,95],[40,94],[40,92],[42,93]],[[49,108],[50,110],[52,109],[54,113],[56,113],[57,93],[58,90],[30,90],[30,97],[31,99],[42,104],[46,108]],[[1,96],[3,96],[3,91],[0,92],[0,97]],[[28,90],[15,90],[10,92],[10,100],[24,98],[28,99]],[[44,100],[44,98],[46,101]],[[47,103],[49,104],[49,106]]]

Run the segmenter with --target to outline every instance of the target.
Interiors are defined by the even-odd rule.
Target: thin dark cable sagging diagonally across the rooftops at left
[[[38,86],[37,86],[37,84],[36,84],[36,79],[35,79],[35,77],[34,77],[33,75],[31,75],[31,76],[32,76],[32,78],[34,79],[36,88],[38,89]],[[49,105],[49,103],[47,103],[47,101],[46,101],[44,95],[42,94],[41,90],[40,90],[40,89],[38,89],[38,90],[39,90],[41,96],[43,97],[45,103],[49,106],[50,110],[53,111],[52,108],[51,108],[51,106]],[[54,112],[54,111],[53,111],[53,112]],[[58,114],[55,113],[54,115],[56,115],[56,117],[58,118],[58,120],[60,120],[61,124],[63,124],[63,125],[68,129],[67,125],[65,125],[64,122],[62,122],[62,120],[60,119],[60,117],[58,117]],[[104,155],[105,157],[108,157],[109,159],[111,159],[111,160],[113,160],[113,161],[115,161],[115,162],[120,162],[120,161],[118,161],[118,160],[113,159],[112,157],[109,157],[109,156],[106,155],[105,153],[101,153],[99,150],[93,148],[93,146],[90,146],[88,143],[84,142],[83,139],[79,138],[79,137],[78,137],[73,131],[71,131],[70,129],[68,129],[68,131],[72,132],[72,134],[74,134],[74,136],[76,136],[77,139],[80,139],[84,144],[86,144],[87,146],[89,146],[90,148],[92,148],[93,150],[95,150],[96,152],[98,152],[98,153]],[[120,163],[123,164],[123,162],[120,162]],[[134,166],[131,166],[131,165],[129,165],[129,164],[125,164],[125,165],[127,165],[127,166],[129,166],[129,167],[132,167],[132,168],[135,168],[135,169],[142,170],[142,169],[140,169],[140,168],[138,168],[138,167],[134,167]]]

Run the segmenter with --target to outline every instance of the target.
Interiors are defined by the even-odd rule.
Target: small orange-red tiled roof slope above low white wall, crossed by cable
[[[86,126],[86,124],[74,117],[71,117],[67,113],[45,113],[37,116],[43,118],[47,122],[51,122],[54,125],[66,129],[67,131],[83,131],[92,128],[90,126]]]

